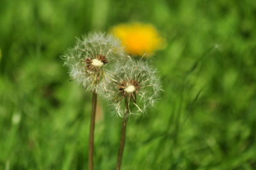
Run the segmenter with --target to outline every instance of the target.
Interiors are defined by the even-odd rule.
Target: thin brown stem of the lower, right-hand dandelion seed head
[[[121,169],[122,159],[123,159],[123,155],[124,155],[126,124],[127,124],[127,120],[128,120],[128,114],[129,114],[129,104],[128,104],[127,98],[125,98],[125,109],[126,109],[126,112],[125,112],[125,115],[123,118],[123,123],[122,123],[122,132],[121,132],[121,138],[120,138],[120,146],[118,149],[116,170]]]

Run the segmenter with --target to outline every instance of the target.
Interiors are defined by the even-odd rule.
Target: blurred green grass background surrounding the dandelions
[[[87,169],[91,93],[60,55],[89,31],[154,24],[164,93],[131,118],[122,169],[256,169],[256,1],[0,1],[0,169]],[[99,102],[95,169],[121,118]]]

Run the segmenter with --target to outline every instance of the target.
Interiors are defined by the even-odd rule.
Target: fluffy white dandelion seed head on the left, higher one
[[[104,87],[105,73],[114,63],[122,63],[126,56],[119,40],[104,33],[91,33],[77,39],[76,45],[63,56],[72,80],[84,88],[98,91]]]

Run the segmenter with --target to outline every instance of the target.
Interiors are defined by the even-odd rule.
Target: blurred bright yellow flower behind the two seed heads
[[[134,56],[150,55],[163,45],[163,38],[156,27],[150,24],[119,24],[113,27],[112,33],[120,38],[125,50]]]

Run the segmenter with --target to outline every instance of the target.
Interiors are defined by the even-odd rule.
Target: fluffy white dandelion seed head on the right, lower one
[[[117,116],[125,115],[125,98],[129,105],[129,115],[143,114],[154,107],[162,91],[157,70],[148,61],[129,59],[125,65],[118,66],[109,79],[105,97],[111,99],[110,105]]]

